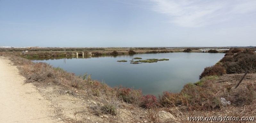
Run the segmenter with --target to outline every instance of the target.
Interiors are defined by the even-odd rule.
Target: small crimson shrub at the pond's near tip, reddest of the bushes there
[[[158,102],[157,102],[156,96],[149,95],[149,94],[146,96],[143,96],[142,102],[141,102],[141,107],[153,108],[153,107],[157,107],[157,106],[158,106]]]

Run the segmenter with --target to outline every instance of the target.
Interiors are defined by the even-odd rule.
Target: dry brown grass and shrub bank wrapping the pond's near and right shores
[[[46,63],[34,63],[10,54],[7,56],[15,65],[18,65],[27,82],[58,85],[68,88],[70,93],[78,91],[88,98],[100,97],[99,104],[91,106],[95,115],[107,113],[115,116],[117,109],[123,108],[119,105],[120,102],[125,102],[135,108],[147,109],[145,118],[151,122],[159,122],[158,111],[161,110],[175,115],[179,122],[189,122],[187,121],[188,116],[255,116],[256,54],[250,50],[242,51],[237,51],[237,49],[227,51],[220,62],[204,69],[200,75],[200,81],[184,85],[181,92],[178,93],[163,92],[158,99],[154,95],[142,95],[142,90],[122,86],[110,87],[90,79],[90,76],[87,75],[78,77],[74,73]],[[6,54],[2,52],[0,55]],[[234,89],[245,70],[250,70],[248,76],[251,78],[246,80],[247,83],[242,83],[237,89]],[[230,82],[231,80],[234,81]],[[221,97],[231,101],[232,104],[223,106]],[[135,109],[130,110],[136,112]]]

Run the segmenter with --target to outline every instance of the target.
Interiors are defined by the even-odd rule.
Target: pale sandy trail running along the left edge
[[[51,103],[39,94],[16,66],[0,57],[0,122],[52,123],[58,121]]]

